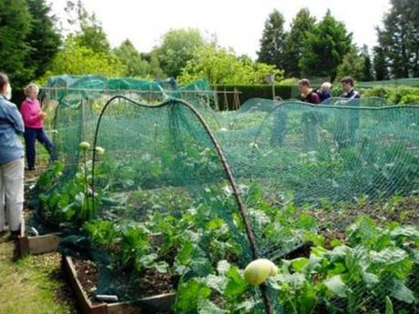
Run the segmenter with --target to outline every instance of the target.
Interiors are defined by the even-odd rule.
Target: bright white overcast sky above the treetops
[[[53,12],[66,16],[66,0],[52,0]],[[382,25],[390,8],[389,0],[83,0],[107,33],[112,46],[128,38],[140,52],[157,46],[170,28],[199,28],[208,37],[216,34],[221,46],[232,47],[239,55],[257,57],[263,25],[278,9],[289,29],[302,7],[322,18],[328,8],[345,23],[358,46],[376,44],[375,27]]]

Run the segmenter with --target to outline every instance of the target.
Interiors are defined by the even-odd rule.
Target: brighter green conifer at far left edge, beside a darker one
[[[25,65],[30,27],[26,0],[0,0],[0,71],[6,72],[17,86],[23,86],[33,75]]]

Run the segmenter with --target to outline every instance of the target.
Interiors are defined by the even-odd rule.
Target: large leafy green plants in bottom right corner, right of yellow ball
[[[378,228],[360,218],[348,228],[348,246],[283,260],[272,287],[290,313],[392,312],[392,300],[415,307],[418,237],[414,227]]]

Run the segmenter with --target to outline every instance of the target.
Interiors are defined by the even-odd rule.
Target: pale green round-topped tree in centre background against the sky
[[[158,56],[160,66],[168,76],[177,77],[195,50],[204,45],[206,42],[198,29],[171,29],[163,35],[161,45],[153,54]]]

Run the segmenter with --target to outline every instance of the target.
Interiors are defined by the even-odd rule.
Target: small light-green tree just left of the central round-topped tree
[[[126,66],[125,76],[146,77],[150,75],[148,62],[141,57],[136,47],[128,39],[123,41],[118,48],[114,49],[114,54]]]

